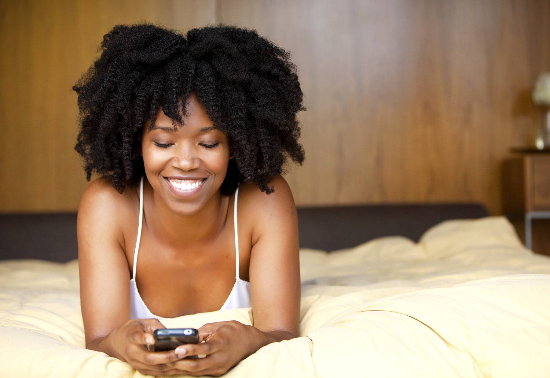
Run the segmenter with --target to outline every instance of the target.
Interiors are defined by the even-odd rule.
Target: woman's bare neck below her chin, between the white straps
[[[192,250],[194,246],[215,240],[226,225],[229,197],[219,190],[193,215],[180,215],[169,209],[166,202],[155,195],[149,182],[144,182],[144,201],[146,199],[150,200],[146,227],[167,248],[177,250],[185,246],[186,250]]]

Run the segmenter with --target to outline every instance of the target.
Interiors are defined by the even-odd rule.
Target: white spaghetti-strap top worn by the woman
[[[250,307],[250,282],[241,280],[239,277],[239,236],[237,231],[237,195],[239,194],[239,188],[235,191],[235,204],[233,205],[233,217],[235,225],[235,284],[233,289],[229,293],[229,297],[226,299],[226,303],[223,304],[220,310],[239,309]],[[138,267],[138,252],[139,242],[141,239],[141,223],[143,219],[143,176],[140,183],[140,195],[139,195],[139,226],[138,226],[138,240],[136,241],[136,249],[134,251],[134,273],[130,280],[130,319],[173,319],[162,316],[157,316],[147,308],[145,302],[141,298],[138,292],[138,286],[136,285],[136,270]]]

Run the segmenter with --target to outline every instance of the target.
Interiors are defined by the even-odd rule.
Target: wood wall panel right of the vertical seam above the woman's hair
[[[530,94],[550,69],[550,3],[219,3],[292,53],[307,111],[299,204],[480,201],[501,212],[500,165],[531,144]]]

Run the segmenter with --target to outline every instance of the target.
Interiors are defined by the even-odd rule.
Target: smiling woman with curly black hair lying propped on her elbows
[[[86,348],[143,374],[221,375],[298,336],[298,226],[280,175],[304,160],[305,108],[289,54],[226,25],[117,25],[101,49],[73,87],[75,150],[100,176],[78,210]],[[147,350],[163,319],[244,307],[254,326],[214,322],[205,342]]]

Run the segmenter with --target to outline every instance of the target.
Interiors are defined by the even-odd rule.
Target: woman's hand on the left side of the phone
[[[141,374],[169,375],[176,374],[169,365],[181,357],[174,350],[150,352],[147,345],[154,344],[153,332],[166,328],[157,319],[133,319],[115,328],[106,337],[113,357],[126,361]],[[109,353],[110,354],[110,353]]]

